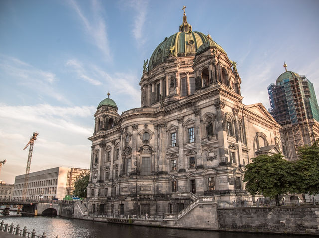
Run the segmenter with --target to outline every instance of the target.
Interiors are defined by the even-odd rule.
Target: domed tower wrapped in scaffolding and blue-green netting
[[[268,86],[270,114],[284,128],[287,158],[297,159],[300,146],[319,139],[319,107],[313,84],[304,76],[287,71]]]

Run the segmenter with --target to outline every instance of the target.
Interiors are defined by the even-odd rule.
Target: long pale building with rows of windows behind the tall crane
[[[71,168],[56,167],[29,174],[27,199],[63,199]],[[25,174],[15,177],[13,199],[22,199]]]

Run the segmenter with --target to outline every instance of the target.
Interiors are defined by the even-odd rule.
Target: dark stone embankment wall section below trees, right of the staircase
[[[221,230],[319,233],[318,206],[218,208]]]

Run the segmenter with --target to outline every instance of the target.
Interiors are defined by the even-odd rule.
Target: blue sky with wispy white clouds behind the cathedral
[[[140,106],[143,60],[179,30],[183,5],[238,63],[245,104],[269,108],[284,60],[319,97],[318,0],[1,0],[0,180],[25,173],[34,131],[31,172],[89,168],[96,106],[108,91],[119,114]]]

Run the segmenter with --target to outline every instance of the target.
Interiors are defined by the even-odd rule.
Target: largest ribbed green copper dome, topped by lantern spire
[[[195,56],[198,48],[206,43],[208,38],[205,34],[192,31],[192,26],[187,23],[184,12],[183,23],[179,26],[179,32],[166,37],[165,40],[155,48],[149,61],[149,70],[166,61],[170,56],[185,57]]]

